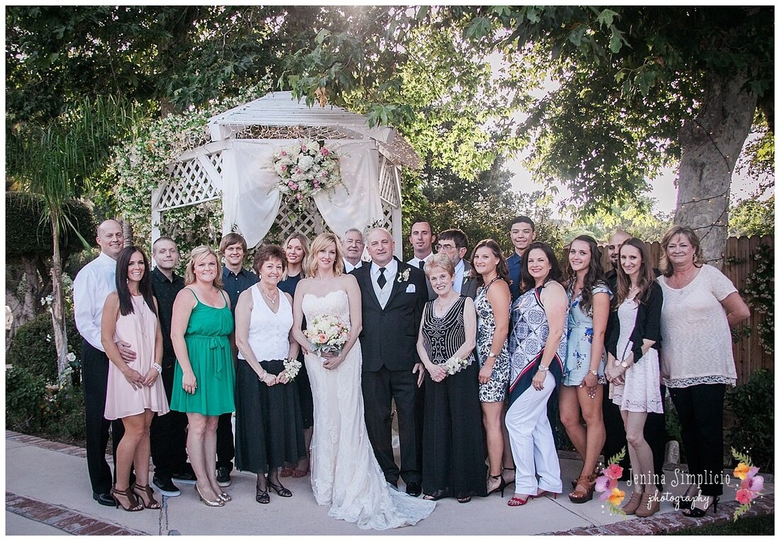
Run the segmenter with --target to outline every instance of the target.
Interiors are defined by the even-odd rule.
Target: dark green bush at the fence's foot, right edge
[[[736,422],[728,430],[729,447],[750,457],[763,471],[775,468],[775,375],[757,370],[750,381],[726,393],[726,408]]]

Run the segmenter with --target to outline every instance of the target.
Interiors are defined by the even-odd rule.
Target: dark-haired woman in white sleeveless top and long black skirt
[[[267,245],[254,256],[260,281],[236,304],[236,467],[257,473],[259,504],[293,493],[282,486],[278,468],[306,456],[298,391],[285,373],[284,360],[298,356],[293,340],[293,297],[278,289],[285,269],[282,248]],[[266,477],[268,475],[268,477]]]

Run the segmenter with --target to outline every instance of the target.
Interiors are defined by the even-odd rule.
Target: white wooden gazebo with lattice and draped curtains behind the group
[[[186,151],[168,166],[170,178],[152,196],[152,237],[165,211],[222,200],[222,233],[236,231],[254,247],[290,233],[312,238],[324,230],[341,236],[350,227],[384,226],[401,253],[401,169],[420,158],[395,129],[370,127],[365,116],[340,107],[295,100],[274,92],[209,120],[211,142]],[[293,212],[280,194],[275,150],[301,139],[324,141],[339,153],[343,185],[321,192],[305,212]]]

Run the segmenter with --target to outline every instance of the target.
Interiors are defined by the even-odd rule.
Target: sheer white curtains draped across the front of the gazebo
[[[229,141],[222,153],[222,233],[235,224],[254,246],[263,240],[276,219],[282,199],[273,154],[296,140],[251,139]],[[328,227],[342,235],[350,227],[363,230],[381,219],[379,153],[371,141],[329,140],[339,152],[343,186],[314,196]]]

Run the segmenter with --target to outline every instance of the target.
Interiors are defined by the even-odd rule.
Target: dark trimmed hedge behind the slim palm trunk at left
[[[81,237],[94,238],[97,224],[87,205],[82,201],[68,201],[63,212]],[[5,192],[5,257],[51,258],[52,250],[51,220],[46,215],[43,198],[37,194]],[[73,230],[63,231],[60,250],[63,255],[83,250]]]

